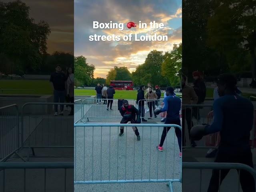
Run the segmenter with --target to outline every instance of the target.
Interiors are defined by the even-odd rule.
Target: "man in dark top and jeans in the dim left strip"
[[[62,72],[61,66],[57,65],[55,72],[50,76],[50,82],[52,82],[54,90],[54,102],[63,103],[65,101],[65,82],[67,80],[66,75]],[[60,105],[60,115],[63,115],[64,105]],[[58,115],[58,105],[54,105],[54,116]]]

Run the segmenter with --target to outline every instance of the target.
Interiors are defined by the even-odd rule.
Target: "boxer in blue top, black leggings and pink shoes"
[[[180,126],[180,107],[181,107],[181,100],[180,98],[176,97],[174,94],[174,88],[167,87],[166,88],[166,98],[164,98],[164,108],[157,108],[155,109],[155,114],[159,114],[161,112],[167,112],[166,120],[164,124],[176,124]],[[170,127],[164,127],[162,132],[160,144],[157,146],[158,150],[163,151],[163,144],[166,138],[166,135]],[[181,140],[182,140],[182,132],[179,128],[175,128],[175,134],[178,138],[178,144],[180,148],[179,156],[182,157],[181,152]]]

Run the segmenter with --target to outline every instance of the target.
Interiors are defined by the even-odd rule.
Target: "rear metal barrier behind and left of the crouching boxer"
[[[97,121],[97,122],[106,122],[108,120],[112,121],[112,118],[122,119],[122,116],[118,110],[118,99],[101,99],[110,102],[109,108],[107,110],[108,104],[97,104],[98,99],[84,99],[83,100],[83,118],[82,121]],[[127,99],[129,104],[136,106],[136,100]],[[112,102],[112,108],[110,107]],[[112,109],[113,111],[111,111]]]

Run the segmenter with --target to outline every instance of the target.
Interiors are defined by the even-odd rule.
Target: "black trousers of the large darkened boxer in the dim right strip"
[[[242,163],[253,168],[252,152],[250,148],[241,152],[228,152],[228,150],[219,149],[214,162],[223,163]],[[212,178],[208,187],[208,192],[218,192],[220,184],[228,174],[229,170],[213,170]],[[255,182],[253,176],[244,170],[240,170],[240,184],[243,192],[255,192]]]

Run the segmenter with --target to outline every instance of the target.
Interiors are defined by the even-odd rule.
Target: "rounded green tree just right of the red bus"
[[[148,54],[144,64],[138,66],[136,71],[132,73],[132,79],[136,86],[146,85],[150,82],[152,85],[165,87],[169,84],[169,80],[162,76],[162,63],[164,55],[162,51],[152,50]]]

